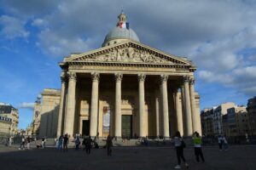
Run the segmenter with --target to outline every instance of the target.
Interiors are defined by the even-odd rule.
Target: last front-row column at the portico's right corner
[[[189,95],[189,77],[183,77],[184,99],[185,99],[185,114],[184,114],[184,136],[191,136],[193,133],[191,120],[191,107]]]

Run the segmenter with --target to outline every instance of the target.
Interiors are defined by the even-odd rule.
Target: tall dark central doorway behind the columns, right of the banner
[[[123,115],[122,116],[122,138],[132,137],[132,116]]]

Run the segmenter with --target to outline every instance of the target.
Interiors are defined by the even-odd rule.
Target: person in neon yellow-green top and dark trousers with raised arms
[[[201,157],[201,161],[205,162],[202,150],[201,150],[201,136],[199,133],[195,132],[193,135],[193,142],[195,147],[195,159],[197,162],[199,162],[199,156]]]

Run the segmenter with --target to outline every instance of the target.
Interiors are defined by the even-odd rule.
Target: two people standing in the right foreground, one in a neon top
[[[200,162],[199,157],[201,157],[201,161],[205,162],[202,150],[201,150],[201,136],[199,133],[195,132],[193,134],[193,143],[195,147],[195,160]],[[177,131],[175,133],[174,137],[174,146],[176,149],[176,154],[177,154],[177,166],[174,167],[176,169],[181,168],[181,160],[184,162],[185,167],[189,167],[189,164],[187,163],[184,155],[183,155],[183,149],[186,147],[184,139],[181,137],[181,134]]]

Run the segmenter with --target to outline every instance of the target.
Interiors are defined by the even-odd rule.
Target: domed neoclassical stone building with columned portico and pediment
[[[201,133],[195,65],[140,42],[119,14],[102,48],[60,63],[57,135],[170,138]]]

